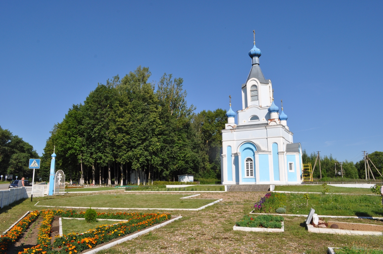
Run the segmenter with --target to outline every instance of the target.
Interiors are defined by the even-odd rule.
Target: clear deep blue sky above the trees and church
[[[97,83],[149,67],[184,79],[196,112],[241,104],[260,67],[308,152],[383,150],[382,1],[1,1],[0,125],[41,155]]]

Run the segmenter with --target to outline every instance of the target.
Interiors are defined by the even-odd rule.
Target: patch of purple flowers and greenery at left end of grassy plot
[[[275,213],[279,207],[286,205],[286,194],[268,192],[257,203],[254,204],[256,213]]]

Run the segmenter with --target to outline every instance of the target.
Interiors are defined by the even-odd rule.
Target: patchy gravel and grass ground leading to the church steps
[[[285,218],[284,233],[233,231],[235,222],[249,213],[263,192],[202,193],[195,198],[223,201],[200,211],[174,211],[183,218],[149,234],[99,253],[327,253],[327,246],[383,246],[383,237],[308,233],[305,218]],[[159,211],[161,212],[161,211]]]

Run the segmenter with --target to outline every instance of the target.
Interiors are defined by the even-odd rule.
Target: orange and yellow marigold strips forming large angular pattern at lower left
[[[97,226],[82,234],[71,233],[66,236],[57,236],[57,239],[51,244],[52,237],[50,234],[54,216],[83,218],[85,212],[77,213],[73,210],[35,211],[23,218],[23,220],[13,226],[7,234],[0,238],[0,254],[6,253],[7,247],[12,242],[15,242],[21,233],[23,233],[39,215],[43,216],[43,221],[39,227],[38,244],[31,248],[24,249],[24,251],[19,252],[19,254],[74,254],[171,218],[169,213],[97,213],[97,218],[123,219],[127,221],[113,225]],[[53,248],[59,248],[59,250]]]

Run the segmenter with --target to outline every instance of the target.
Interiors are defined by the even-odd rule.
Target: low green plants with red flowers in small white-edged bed
[[[259,215],[257,217],[252,217],[250,215],[245,215],[241,221],[236,222],[236,225],[250,228],[282,228],[281,221],[283,221],[282,216]]]

